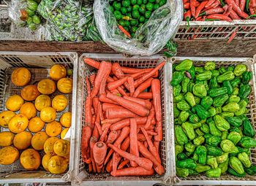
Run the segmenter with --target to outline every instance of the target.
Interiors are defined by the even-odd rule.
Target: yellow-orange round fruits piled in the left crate
[[[9,96],[5,102],[7,110],[0,113],[1,165],[19,159],[27,171],[40,170],[41,165],[52,174],[66,171],[70,144],[64,138],[72,114],[63,111],[68,105],[65,94],[72,93],[72,71],[56,64],[49,75],[50,79],[40,77],[37,85],[29,85],[37,74],[24,67],[12,71],[11,86],[21,92]],[[61,115],[59,121],[57,114]]]

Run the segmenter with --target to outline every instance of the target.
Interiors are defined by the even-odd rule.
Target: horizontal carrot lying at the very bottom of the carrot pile
[[[151,168],[150,170],[146,170],[140,166],[138,167],[129,167],[123,168],[116,171],[116,174],[110,173],[113,177],[124,177],[124,176],[151,176],[154,174],[154,170]]]

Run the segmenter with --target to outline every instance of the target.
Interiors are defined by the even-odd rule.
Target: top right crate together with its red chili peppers
[[[255,39],[255,0],[183,0],[184,21],[175,39]]]

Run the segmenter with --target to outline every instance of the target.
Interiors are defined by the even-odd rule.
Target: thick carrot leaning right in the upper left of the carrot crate
[[[97,94],[99,93],[99,88],[100,85],[102,83],[102,81],[106,81],[105,80],[105,74],[109,74],[111,71],[111,63],[106,62],[106,61],[102,61],[99,65],[99,70],[97,73],[97,76],[95,78],[94,81],[94,88],[92,88],[91,90],[91,97],[97,96]]]

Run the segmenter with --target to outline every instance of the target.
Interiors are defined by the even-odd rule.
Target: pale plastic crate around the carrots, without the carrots
[[[162,165],[165,167],[165,174],[159,177],[154,174],[151,177],[111,177],[110,174],[91,174],[88,171],[86,164],[83,163],[80,150],[80,140],[83,125],[85,125],[85,103],[86,103],[86,76],[94,74],[95,71],[91,66],[83,63],[83,58],[92,58],[95,61],[110,61],[118,62],[121,66],[135,68],[152,68],[157,66],[157,63],[164,60],[159,55],[151,57],[124,58],[123,55],[117,54],[83,54],[80,57],[78,67],[78,109],[77,109],[77,127],[75,136],[78,142],[75,147],[75,169],[73,185],[154,185],[155,183],[165,183],[170,185],[170,174],[173,172],[171,161],[170,146],[170,104],[169,104],[169,80],[170,80],[170,63],[166,63],[164,68],[159,70],[159,80],[161,81],[162,92],[162,128],[163,140],[160,143],[160,154]]]

